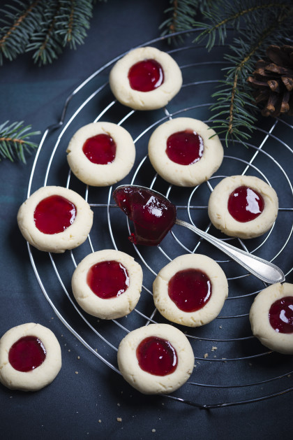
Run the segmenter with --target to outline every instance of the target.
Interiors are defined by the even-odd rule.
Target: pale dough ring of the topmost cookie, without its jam
[[[156,82],[158,87],[153,90],[144,92],[130,85],[130,69],[140,62],[154,62],[161,67],[160,82]],[[178,64],[166,52],[152,47],[131,50],[110,71],[110,87],[114,97],[135,110],[164,107],[179,92],[181,85],[182,75]]]

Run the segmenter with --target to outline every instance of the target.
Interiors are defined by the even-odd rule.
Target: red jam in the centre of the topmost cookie
[[[156,59],[144,59],[128,71],[130,87],[137,92],[151,92],[164,82],[164,71]]]

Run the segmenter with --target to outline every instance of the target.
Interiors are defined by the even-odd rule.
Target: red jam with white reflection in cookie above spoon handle
[[[255,190],[239,186],[228,199],[228,211],[238,222],[250,222],[264,210],[264,199]]]

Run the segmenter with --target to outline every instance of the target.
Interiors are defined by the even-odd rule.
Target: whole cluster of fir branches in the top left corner
[[[0,64],[33,52],[39,65],[52,63],[63,49],[84,43],[93,0],[13,0],[0,9]]]

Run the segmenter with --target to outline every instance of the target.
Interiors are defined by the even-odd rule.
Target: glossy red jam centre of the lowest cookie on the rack
[[[169,341],[149,336],[142,340],[136,349],[140,368],[156,376],[167,376],[177,367],[177,354]]]

